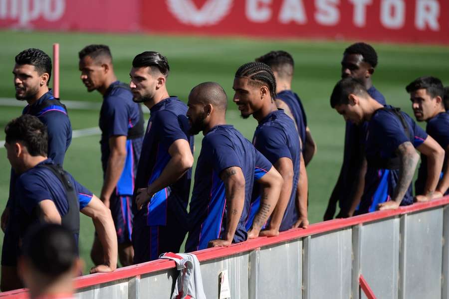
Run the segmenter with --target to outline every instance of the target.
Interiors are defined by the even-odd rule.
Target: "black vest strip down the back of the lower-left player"
[[[51,172],[53,172],[53,174],[64,186],[68,210],[67,213],[61,217],[62,225],[69,229],[73,234],[79,234],[79,201],[75,187],[70,181],[70,178],[60,165],[40,164],[39,167],[44,167],[51,170]]]

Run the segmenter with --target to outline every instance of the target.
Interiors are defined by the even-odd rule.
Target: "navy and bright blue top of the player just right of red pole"
[[[118,195],[132,195],[137,173],[142,141],[144,136],[143,114],[140,104],[133,102],[129,88],[119,81],[112,83],[103,96],[100,110],[99,127],[101,129],[101,164],[103,175],[110,155],[109,139],[112,136],[126,136],[126,158],[122,174],[117,182]],[[138,136],[130,137],[136,126]],[[135,128],[136,129],[136,128]]]

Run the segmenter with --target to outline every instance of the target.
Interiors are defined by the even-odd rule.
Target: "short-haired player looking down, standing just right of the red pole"
[[[100,199],[112,212],[120,263],[129,266],[134,256],[132,196],[144,136],[142,109],[133,102],[129,86],[117,80],[108,46],[88,45],[78,55],[81,80],[87,91],[97,90],[103,96],[99,123],[104,181]],[[102,253],[95,237],[91,257],[96,265],[102,263]]]

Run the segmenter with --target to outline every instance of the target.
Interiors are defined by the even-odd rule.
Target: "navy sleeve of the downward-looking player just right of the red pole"
[[[129,116],[125,101],[117,96],[109,96],[103,110],[109,136],[128,136]]]

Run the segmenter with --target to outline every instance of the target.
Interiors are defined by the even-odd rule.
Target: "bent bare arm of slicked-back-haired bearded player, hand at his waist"
[[[136,204],[139,210],[156,192],[175,183],[193,165],[193,155],[187,140],[178,139],[168,151],[171,158],[161,175],[148,188],[137,190]]]

